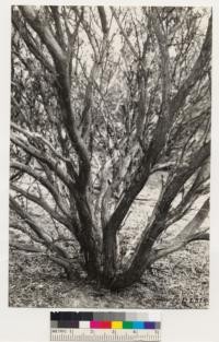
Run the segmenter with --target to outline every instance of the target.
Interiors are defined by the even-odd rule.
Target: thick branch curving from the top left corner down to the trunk
[[[71,143],[81,161],[78,182],[81,191],[85,191],[90,178],[91,165],[89,152],[76,127],[74,113],[71,104],[69,60],[49,27],[46,25],[45,21],[41,19],[33,8],[20,7],[20,9],[31,27],[37,33],[42,42],[46,45],[54,59],[57,71],[56,84],[58,96],[60,98],[61,115]]]

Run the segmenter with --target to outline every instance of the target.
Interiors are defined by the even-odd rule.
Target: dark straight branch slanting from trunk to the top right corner
[[[146,181],[148,180],[151,167],[157,162],[159,153],[163,149],[166,132],[170,130],[170,127],[172,125],[173,115],[175,115],[175,113],[177,113],[180,107],[184,104],[187,94],[189,93],[192,87],[196,84],[196,82],[205,75],[205,72],[203,72],[203,70],[206,69],[205,67],[210,58],[210,50],[211,50],[211,19],[209,20],[206,38],[203,44],[199,57],[195,62],[195,66],[192,69],[192,72],[187,80],[185,81],[184,85],[169,105],[170,115],[168,115],[169,118],[168,121],[165,115],[160,116],[157,128],[153,133],[153,139],[141,160],[140,166],[138,167],[131,179],[129,188],[126,190],[126,193],[122,198],[115,212],[110,219],[110,222],[107,223],[108,228],[111,226],[114,226],[115,229],[118,229],[135,197],[140,192]]]

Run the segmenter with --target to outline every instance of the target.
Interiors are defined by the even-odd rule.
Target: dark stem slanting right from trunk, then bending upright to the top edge
[[[115,11],[112,9],[115,19],[117,17]],[[106,229],[111,229],[114,226],[114,229],[117,231],[119,228],[123,219],[127,214],[130,204],[135,200],[136,196],[140,192],[146,181],[148,180],[151,168],[153,164],[157,162],[159,153],[161,152],[164,141],[165,134],[171,126],[170,118],[170,60],[166,45],[166,37],[161,32],[161,27],[159,24],[159,19],[154,11],[152,12],[153,25],[157,34],[157,39],[159,42],[160,55],[161,55],[161,73],[162,73],[162,110],[159,117],[159,121],[157,128],[153,133],[153,139],[149,145],[149,148],[145,151],[143,156],[141,158],[140,165],[136,173],[132,176],[130,181],[130,186],[126,189],[124,197],[120,199],[115,212],[106,224]],[[119,25],[119,21],[117,19],[117,23]],[[131,47],[131,49],[134,49]],[[135,50],[135,49],[134,49]],[[136,52],[135,52],[136,54]],[[145,68],[145,67],[143,67]]]

